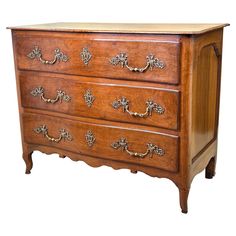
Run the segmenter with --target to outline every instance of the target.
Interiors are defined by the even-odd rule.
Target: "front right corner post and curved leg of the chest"
[[[191,161],[189,159],[190,146],[190,117],[191,117],[191,79],[193,65],[193,45],[191,37],[181,38],[181,97],[180,97],[180,166],[178,177],[180,179],[179,202],[182,213],[188,212],[188,193],[190,191],[189,182]]]

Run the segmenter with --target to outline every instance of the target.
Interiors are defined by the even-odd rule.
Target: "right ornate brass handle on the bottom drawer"
[[[165,151],[156,146],[155,144],[148,143],[147,144],[147,151],[145,153],[138,153],[138,152],[133,152],[128,149],[128,141],[126,138],[120,138],[117,142],[112,143],[111,145],[114,149],[119,149],[121,148],[122,151],[126,151],[130,156],[138,157],[138,158],[144,158],[148,154],[152,155],[156,154],[159,156],[163,156],[165,154]]]

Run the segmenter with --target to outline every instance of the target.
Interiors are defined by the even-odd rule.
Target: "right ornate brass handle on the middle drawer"
[[[159,115],[161,115],[161,114],[163,114],[165,112],[165,109],[161,105],[159,105],[159,104],[157,104],[157,103],[155,103],[155,102],[153,102],[151,100],[148,100],[146,102],[147,108],[146,108],[146,111],[144,113],[138,113],[138,112],[130,111],[129,110],[129,100],[127,100],[126,97],[122,97],[119,100],[115,100],[112,103],[112,106],[115,109],[123,107],[123,112],[127,112],[131,116],[141,117],[141,118],[145,118],[145,117],[151,116],[153,110],[156,113],[158,113]]]

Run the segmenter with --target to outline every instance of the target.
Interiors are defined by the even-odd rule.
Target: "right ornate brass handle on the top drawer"
[[[126,55],[126,53],[121,52],[115,57],[111,58],[110,63],[114,66],[120,64],[122,67],[125,66],[130,71],[141,72],[141,73],[145,72],[149,68],[150,70],[152,70],[154,67],[157,67],[160,69],[163,69],[165,67],[165,63],[159,60],[158,58],[155,58],[153,54],[148,55],[146,59],[147,59],[147,63],[145,67],[143,68],[132,67],[132,66],[129,66],[128,56]]]

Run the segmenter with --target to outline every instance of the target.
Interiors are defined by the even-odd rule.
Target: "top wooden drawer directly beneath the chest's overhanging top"
[[[14,31],[18,69],[178,84],[179,37]]]

